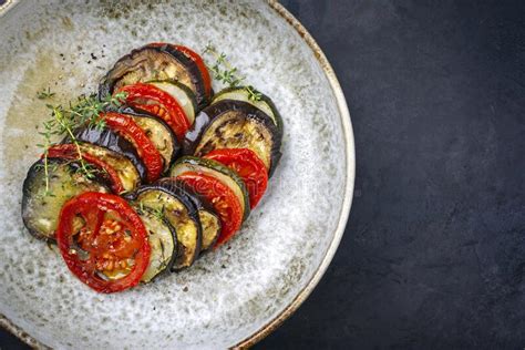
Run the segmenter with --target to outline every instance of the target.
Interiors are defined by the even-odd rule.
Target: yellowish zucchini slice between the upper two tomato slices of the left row
[[[132,116],[135,123],[142,127],[161,153],[164,159],[164,171],[167,172],[181,150],[181,144],[172,128],[164,121],[145,113],[138,113],[132,107],[123,107],[119,110],[119,113]]]

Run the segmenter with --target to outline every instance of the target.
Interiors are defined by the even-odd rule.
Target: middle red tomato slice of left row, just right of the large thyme
[[[164,169],[163,157],[142,127],[135,123],[133,117],[113,112],[101,114],[101,116],[107,126],[124,135],[125,138],[133,143],[138,156],[146,166],[147,181],[154,182],[161,177]]]

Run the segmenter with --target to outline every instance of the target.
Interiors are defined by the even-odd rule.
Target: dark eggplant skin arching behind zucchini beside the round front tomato
[[[153,184],[141,186],[135,192],[124,195],[124,198],[130,202],[137,202],[140,195],[147,191],[163,192],[178,199],[187,208],[188,217],[196,224],[196,227],[197,227],[197,239],[195,241],[194,255],[192,256],[191,261],[189,261],[189,266],[191,266],[195,261],[195,259],[198,257],[200,253],[202,241],[203,241],[203,228],[200,225],[200,219],[198,218],[198,208],[195,205],[195,199],[192,198],[191,194],[187,193],[183,187],[181,187],[174,178],[171,178],[171,177],[164,177],[156,181]],[[182,247],[184,246],[184,244],[181,241],[178,235],[179,233],[177,231],[178,246]],[[181,258],[181,253],[179,253],[178,258]],[[175,270],[181,270],[184,268],[184,267],[183,268],[177,267],[177,262],[178,261],[175,262],[172,270],[175,271]]]

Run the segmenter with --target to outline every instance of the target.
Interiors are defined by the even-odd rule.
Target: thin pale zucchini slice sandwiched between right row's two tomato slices
[[[169,176],[177,177],[187,172],[210,175],[231,188],[243,207],[243,219],[246,220],[250,212],[249,195],[245,183],[237,173],[216,161],[184,156],[172,166]]]

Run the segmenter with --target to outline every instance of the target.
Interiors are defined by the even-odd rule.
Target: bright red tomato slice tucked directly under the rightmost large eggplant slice
[[[234,169],[243,178],[254,208],[268,186],[268,171],[257,154],[248,148],[223,148],[206,154],[204,158],[217,161]]]

